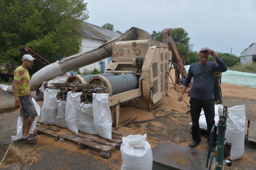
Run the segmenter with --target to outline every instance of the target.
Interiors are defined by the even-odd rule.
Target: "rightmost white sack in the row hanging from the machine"
[[[108,94],[92,94],[94,126],[102,138],[112,139],[112,117],[108,103]]]

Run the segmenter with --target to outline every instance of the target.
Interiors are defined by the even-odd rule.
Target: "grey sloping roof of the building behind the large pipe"
[[[82,28],[78,31],[82,37],[108,41],[120,34],[88,22],[82,22]]]

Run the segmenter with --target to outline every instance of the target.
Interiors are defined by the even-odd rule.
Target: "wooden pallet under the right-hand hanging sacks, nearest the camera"
[[[104,139],[99,135],[89,135],[85,133],[65,133],[60,135],[60,141],[65,142],[66,140],[74,141],[78,144],[80,149],[85,149],[86,146],[94,148],[100,151],[100,154],[90,152],[95,155],[99,155],[102,158],[109,159],[111,152],[117,148],[120,149],[122,143],[122,137],[129,135],[125,132],[112,130],[112,139]]]

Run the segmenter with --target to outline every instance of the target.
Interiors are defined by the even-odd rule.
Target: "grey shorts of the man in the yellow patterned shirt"
[[[29,94],[25,96],[19,96],[21,108],[20,117],[36,117],[37,111]]]

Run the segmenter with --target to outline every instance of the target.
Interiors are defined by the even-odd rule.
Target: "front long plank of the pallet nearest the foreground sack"
[[[67,133],[61,134],[60,138],[65,138],[65,139],[74,141],[74,142],[78,143],[79,145],[83,144],[83,145],[101,150],[103,152],[109,152],[109,151],[113,150],[113,147],[111,147],[111,146],[96,143],[96,142],[93,142],[93,141],[88,140],[88,139],[84,139],[84,138],[80,138],[78,136],[74,136],[72,134],[67,134]]]

